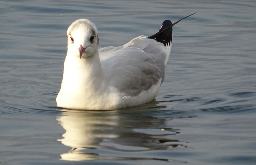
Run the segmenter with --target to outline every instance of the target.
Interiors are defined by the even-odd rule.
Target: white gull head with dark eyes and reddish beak
[[[91,21],[76,20],[68,27],[67,35],[69,54],[86,59],[98,51],[98,30]]]

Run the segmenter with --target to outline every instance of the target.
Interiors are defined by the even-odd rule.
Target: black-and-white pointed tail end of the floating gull
[[[196,12],[193,13],[193,14],[196,14]],[[193,14],[190,14],[189,16],[191,16]],[[167,47],[167,57],[164,61],[165,66],[166,66],[166,63],[169,59],[171,48],[172,48],[172,27],[174,25],[176,25],[178,22],[180,22],[181,20],[184,20],[185,18],[188,18],[189,16],[184,17],[184,18],[178,20],[177,22],[175,22],[173,24],[170,20],[165,20],[163,22],[163,24],[161,25],[161,27],[159,29],[159,32],[157,32],[156,34],[151,35],[151,36],[148,37],[150,39],[156,40],[157,42],[163,43],[164,46]]]

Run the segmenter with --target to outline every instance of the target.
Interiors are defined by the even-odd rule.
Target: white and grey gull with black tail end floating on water
[[[73,22],[67,30],[68,51],[57,106],[111,110],[152,101],[164,81],[172,26],[179,21],[165,20],[154,35],[101,49],[94,23],[86,19]]]

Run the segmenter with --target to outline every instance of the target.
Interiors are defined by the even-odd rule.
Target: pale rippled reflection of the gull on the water
[[[72,148],[60,155],[62,160],[170,161],[143,153],[186,147],[184,142],[169,139],[179,130],[168,127],[165,119],[153,117],[163,108],[156,103],[112,111],[62,109],[57,120],[66,132],[59,141]]]

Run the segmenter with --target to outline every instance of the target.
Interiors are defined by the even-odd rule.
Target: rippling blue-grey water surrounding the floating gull
[[[254,1],[1,1],[0,162],[15,164],[254,164]],[[173,28],[166,78],[146,105],[56,107],[66,30],[98,27],[100,47]],[[72,162],[70,162],[72,161]]]

